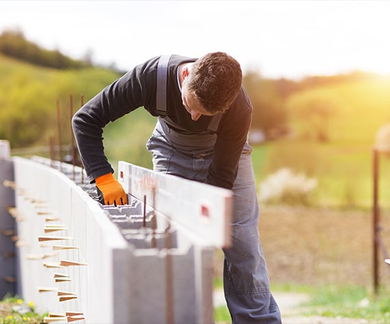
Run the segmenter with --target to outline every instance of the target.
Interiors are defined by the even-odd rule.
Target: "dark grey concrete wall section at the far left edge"
[[[10,188],[14,180],[14,168],[10,160],[10,143],[0,140],[0,299],[8,293],[16,293],[16,258],[14,238],[15,219],[10,207],[14,207],[14,191]]]

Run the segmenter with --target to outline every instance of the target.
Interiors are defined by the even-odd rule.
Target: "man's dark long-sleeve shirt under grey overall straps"
[[[211,116],[192,121],[181,101],[177,70],[180,64],[196,59],[172,55],[168,65],[167,109],[169,118],[188,132],[206,132]],[[110,121],[144,107],[153,116],[156,110],[157,63],[159,56],[135,66],[104,88],[73,116],[73,132],[81,161],[91,181],[114,172],[103,151],[103,127]],[[242,88],[224,113],[218,127],[213,162],[206,179],[208,184],[231,189],[237,166],[252,121],[252,105]],[[131,145],[131,139],[129,139]]]

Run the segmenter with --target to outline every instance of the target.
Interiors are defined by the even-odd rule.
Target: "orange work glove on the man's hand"
[[[99,201],[103,205],[127,205],[127,195],[122,185],[112,173],[95,179]]]

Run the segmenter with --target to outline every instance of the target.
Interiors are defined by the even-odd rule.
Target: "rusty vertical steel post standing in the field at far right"
[[[372,151],[372,171],[373,171],[373,204],[372,204],[372,262],[374,275],[374,294],[378,295],[379,276],[378,276],[378,229],[379,229],[379,208],[378,208],[378,169],[379,169],[379,154],[378,150]]]

